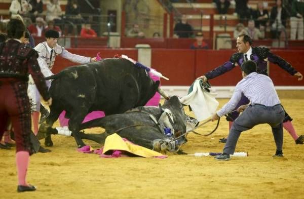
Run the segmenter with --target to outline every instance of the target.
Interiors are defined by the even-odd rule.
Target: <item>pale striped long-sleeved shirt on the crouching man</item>
[[[238,108],[236,106],[242,95],[245,95],[251,104],[274,106],[281,103],[271,78],[252,72],[237,84],[232,98],[216,112],[217,115],[221,117]]]

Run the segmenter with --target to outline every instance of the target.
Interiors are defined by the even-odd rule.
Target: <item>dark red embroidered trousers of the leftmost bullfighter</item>
[[[0,138],[7,129],[9,118],[14,128],[16,151],[32,154],[30,142],[31,118],[27,83],[14,78],[0,78]]]

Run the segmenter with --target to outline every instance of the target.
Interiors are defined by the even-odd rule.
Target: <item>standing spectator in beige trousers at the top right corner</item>
[[[304,31],[304,0],[293,0],[290,17],[290,39],[303,40]],[[297,34],[297,37],[296,37]]]

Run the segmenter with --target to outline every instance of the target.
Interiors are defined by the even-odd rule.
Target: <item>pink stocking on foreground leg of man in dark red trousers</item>
[[[26,183],[26,172],[29,161],[28,151],[18,151],[16,153],[16,164],[18,171],[18,185],[28,186]]]

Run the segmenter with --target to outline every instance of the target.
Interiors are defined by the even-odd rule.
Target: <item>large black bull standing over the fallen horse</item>
[[[68,67],[46,79],[53,79],[49,90],[53,103],[46,123],[53,126],[65,110],[78,147],[85,145],[79,130],[88,113],[102,110],[110,115],[144,106],[159,87],[159,81],[154,82],[144,69],[118,58]],[[45,144],[53,145],[50,136]]]

